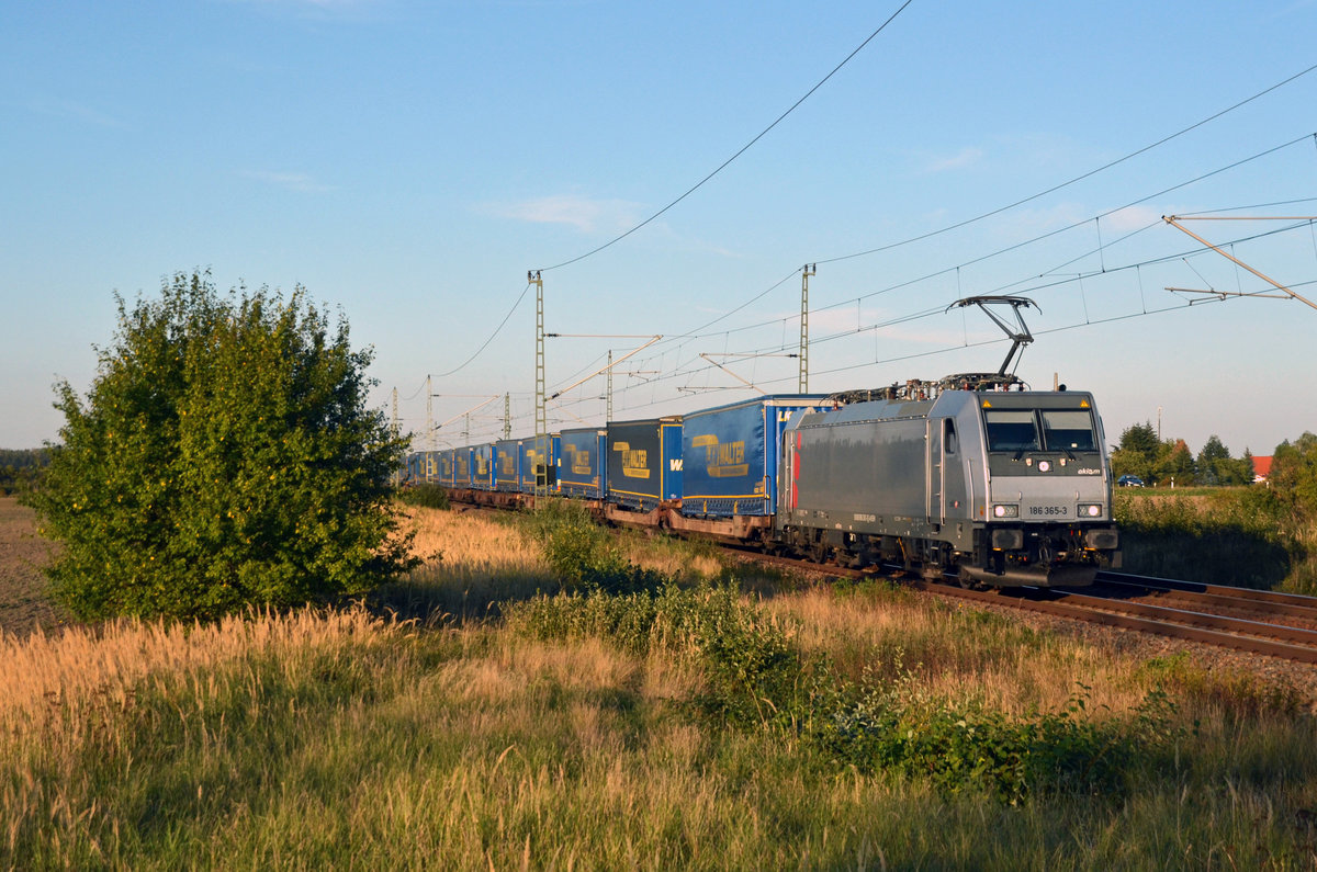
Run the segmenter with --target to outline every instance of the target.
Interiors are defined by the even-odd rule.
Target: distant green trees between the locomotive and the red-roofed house
[[[1279,449],[1277,449],[1279,450]],[[1112,450],[1112,473],[1138,476],[1148,485],[1251,485],[1252,454],[1231,457],[1217,436],[1209,436],[1202,450],[1193,454],[1183,439],[1158,439],[1152,423],[1135,424],[1121,433]]]

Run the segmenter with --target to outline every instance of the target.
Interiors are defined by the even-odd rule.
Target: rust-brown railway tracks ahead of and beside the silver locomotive
[[[830,564],[740,553],[755,562],[797,572],[840,578],[872,576]],[[965,590],[954,580],[915,584],[943,597],[1317,664],[1317,598],[1313,597],[1118,573],[1100,573],[1093,589],[1080,590]]]

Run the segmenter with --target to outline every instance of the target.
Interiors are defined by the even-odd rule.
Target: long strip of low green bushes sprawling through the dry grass
[[[690,703],[710,722],[778,731],[836,765],[927,778],[946,793],[979,790],[1008,804],[1038,793],[1119,794],[1179,738],[1162,692],[1129,721],[1092,718],[1083,686],[1062,711],[1010,718],[928,693],[910,672],[847,680],[826,659],[807,657],[734,584],[537,597],[506,603],[504,616],[537,639],[599,638],[636,655],[690,659],[703,673]]]

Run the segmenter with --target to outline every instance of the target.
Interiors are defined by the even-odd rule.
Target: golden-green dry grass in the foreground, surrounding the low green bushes
[[[396,601],[483,618],[552,581],[515,526],[412,522],[440,556]],[[718,570],[624,541],[649,566]],[[901,591],[760,607],[848,676],[910,670],[1008,714],[1056,710],[1083,681],[1090,713],[1121,715],[1154,681],[1081,640]],[[1229,695],[1164,782],[1004,809],[693,718],[701,681],[661,647],[363,607],[3,635],[0,868],[1312,865],[1310,832],[1289,823],[1317,805],[1312,724],[1245,717]]]

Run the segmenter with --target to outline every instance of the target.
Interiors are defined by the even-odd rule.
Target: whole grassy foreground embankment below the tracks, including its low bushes
[[[881,585],[747,597],[570,519],[416,518],[437,557],[375,611],[0,639],[0,868],[1313,863],[1284,686]]]

